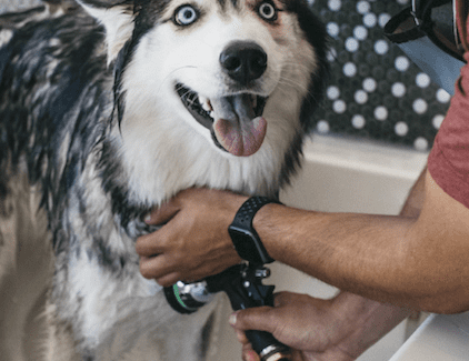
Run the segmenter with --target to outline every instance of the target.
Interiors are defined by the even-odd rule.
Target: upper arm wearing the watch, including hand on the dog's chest
[[[239,262],[227,229],[245,200],[211,190],[179,194],[151,220],[167,224],[137,242],[142,274],[169,285]],[[468,219],[427,172],[417,219],[267,204],[253,224],[282,263],[368,299],[446,313],[469,308]]]

